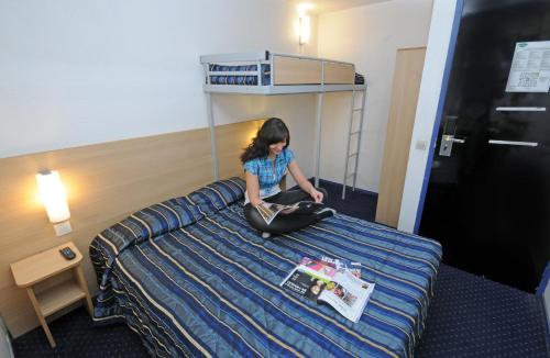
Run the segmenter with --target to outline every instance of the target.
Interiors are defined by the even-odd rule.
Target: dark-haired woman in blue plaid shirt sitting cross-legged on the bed
[[[301,174],[288,148],[290,134],[285,123],[276,118],[267,120],[241,155],[245,170],[246,192],[244,214],[250,225],[267,238],[271,234],[284,234],[317,223],[334,214],[334,210],[322,204],[327,191],[315,188]],[[279,182],[287,170],[300,189],[282,191]],[[270,224],[262,219],[256,206],[262,202],[283,205],[302,203],[292,214],[277,215]]]

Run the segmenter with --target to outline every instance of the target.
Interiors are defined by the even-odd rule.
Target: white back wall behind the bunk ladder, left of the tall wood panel
[[[319,56],[352,61],[369,99],[358,187],[378,191],[396,51],[426,46],[432,0],[392,0],[319,16]],[[321,178],[342,182],[350,94],[326,97]]]

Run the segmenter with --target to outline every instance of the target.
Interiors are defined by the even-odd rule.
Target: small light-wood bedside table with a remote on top
[[[72,260],[65,259],[59,253],[61,248],[67,246],[76,255]],[[92,314],[94,305],[80,267],[81,261],[82,254],[73,242],[68,242],[10,265],[16,286],[26,289],[52,348],[55,348],[55,340],[47,326],[46,316],[82,299],[86,299],[88,312]],[[68,280],[43,292],[34,292],[34,284],[70,269],[75,270],[77,282]]]

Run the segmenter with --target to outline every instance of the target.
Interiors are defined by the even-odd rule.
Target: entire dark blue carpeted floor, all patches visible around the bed
[[[327,204],[340,213],[374,220],[376,194],[356,190],[342,201],[341,186],[321,181]],[[84,307],[50,325],[57,342],[51,349],[42,328],[13,342],[15,357],[146,357],[124,325],[95,327]],[[441,265],[433,301],[416,356],[550,357],[539,297]]]

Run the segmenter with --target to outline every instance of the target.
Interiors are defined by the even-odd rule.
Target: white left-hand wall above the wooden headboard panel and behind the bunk
[[[206,127],[200,55],[316,55],[315,20],[299,48],[296,4],[282,0],[1,1],[0,158]],[[218,123],[275,114],[301,132],[314,123],[312,96],[231,96],[213,107]],[[300,163],[311,161],[312,148],[294,143]]]

